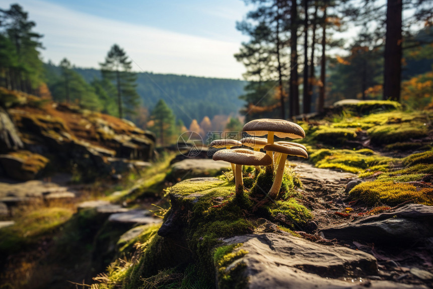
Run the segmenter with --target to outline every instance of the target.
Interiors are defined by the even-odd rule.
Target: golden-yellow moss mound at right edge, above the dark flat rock
[[[397,205],[405,201],[413,200],[414,203],[433,205],[433,189],[417,189],[415,186],[406,183],[383,182],[375,180],[355,186],[349,196],[352,199],[360,199],[368,205],[379,203],[385,205]]]

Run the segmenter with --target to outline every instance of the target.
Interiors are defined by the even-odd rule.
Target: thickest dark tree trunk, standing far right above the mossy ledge
[[[400,101],[402,57],[402,0],[388,0],[386,11],[386,42],[383,99]]]

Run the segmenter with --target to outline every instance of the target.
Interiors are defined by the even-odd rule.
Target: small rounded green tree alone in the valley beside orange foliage
[[[153,131],[160,144],[164,145],[170,141],[174,134],[175,117],[173,111],[168,107],[164,100],[160,99],[151,113],[152,126],[149,130]]]

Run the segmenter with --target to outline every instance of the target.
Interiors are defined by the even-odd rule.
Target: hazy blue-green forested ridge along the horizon
[[[60,68],[50,69],[60,75]],[[97,69],[74,68],[88,82],[101,78]],[[175,74],[137,73],[137,93],[142,104],[150,111],[160,98],[170,106],[176,118],[189,126],[193,119],[200,122],[206,115],[212,119],[218,114],[237,115],[244,101],[246,81],[236,79],[206,78]]]

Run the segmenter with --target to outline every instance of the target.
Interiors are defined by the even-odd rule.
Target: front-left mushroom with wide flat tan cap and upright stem
[[[269,165],[272,162],[270,156],[263,152],[242,148],[219,150],[213,154],[212,159],[224,160],[236,164],[235,186],[237,197],[241,197],[244,192],[242,165]]]

